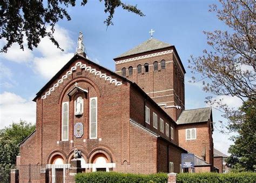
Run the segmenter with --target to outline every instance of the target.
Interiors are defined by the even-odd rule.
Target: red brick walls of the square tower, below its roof
[[[144,55],[166,50],[170,50],[170,48],[147,52],[144,53]],[[131,57],[137,56],[138,55]],[[117,59],[117,61],[118,60],[119,59]],[[165,60],[166,62],[166,68],[162,70],[160,66],[161,60]],[[155,61],[158,62],[158,71],[153,71],[153,62]],[[145,63],[149,64],[149,72],[144,72]],[[177,72],[174,72],[174,63],[177,65]],[[137,66],[139,64],[142,65],[142,73],[138,73]],[[131,76],[129,76],[128,70],[130,66],[133,67],[133,74]],[[121,70],[123,67],[126,68],[126,78],[137,83],[154,101],[156,101],[156,103],[166,104],[166,106],[178,105],[185,109],[184,84],[181,86],[181,80],[184,81],[184,74],[181,72],[173,53],[116,64],[116,73],[121,75]],[[165,108],[163,106],[163,109],[175,121],[178,119],[181,113],[181,110],[177,110],[176,108]]]

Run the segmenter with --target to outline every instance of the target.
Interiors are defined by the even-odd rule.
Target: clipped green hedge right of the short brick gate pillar
[[[256,182],[256,173],[179,173],[177,182]]]

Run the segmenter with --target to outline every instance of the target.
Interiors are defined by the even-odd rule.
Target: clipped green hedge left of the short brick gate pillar
[[[167,182],[166,173],[132,174],[118,172],[92,172],[76,174],[76,182]]]

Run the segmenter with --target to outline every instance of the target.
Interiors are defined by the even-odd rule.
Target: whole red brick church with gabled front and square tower
[[[151,38],[113,59],[112,72],[75,56],[36,94],[36,130],[20,145],[21,165],[65,166],[80,152],[84,172],[213,171],[209,107],[185,110],[184,66],[175,46]],[[49,68],[50,69],[50,68]]]

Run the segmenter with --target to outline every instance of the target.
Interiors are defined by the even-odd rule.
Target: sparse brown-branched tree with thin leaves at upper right
[[[210,11],[217,13],[220,21],[227,25],[228,31],[204,31],[211,50],[204,50],[203,56],[189,60],[193,74],[191,82],[203,81],[203,91],[217,96],[235,96],[242,101],[256,98],[256,26],[253,0],[219,0],[210,6]],[[223,124],[222,130],[230,132],[233,121],[239,111],[227,106],[223,99],[212,96],[206,103],[223,112],[223,117],[230,123]]]

